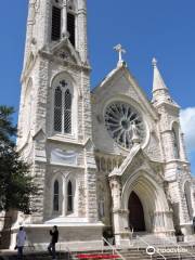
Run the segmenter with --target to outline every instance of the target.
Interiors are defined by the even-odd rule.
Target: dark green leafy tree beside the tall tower
[[[16,209],[30,213],[30,197],[37,194],[29,165],[16,151],[13,107],[0,106],[0,211]]]

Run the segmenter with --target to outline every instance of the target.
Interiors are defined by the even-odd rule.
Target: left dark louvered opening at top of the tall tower
[[[53,41],[61,39],[61,9],[52,8],[52,34],[51,39]]]

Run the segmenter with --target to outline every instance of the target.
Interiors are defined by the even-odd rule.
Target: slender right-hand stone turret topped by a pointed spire
[[[165,160],[165,190],[173,211],[174,229],[191,234],[188,224],[194,216],[194,195],[190,162],[180,126],[180,107],[172,100],[157,61],[153,60],[153,105],[159,114],[159,136]]]

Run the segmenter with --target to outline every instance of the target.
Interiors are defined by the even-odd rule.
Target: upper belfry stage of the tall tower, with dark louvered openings
[[[67,38],[87,61],[86,0],[29,0],[25,60],[29,53]]]

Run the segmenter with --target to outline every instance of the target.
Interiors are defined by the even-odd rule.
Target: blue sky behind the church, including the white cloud
[[[27,0],[2,1],[0,15],[0,104],[12,105],[17,120]],[[113,68],[121,43],[123,60],[151,99],[152,58],[173,100],[181,106],[181,125],[195,174],[195,0],[88,0],[91,88]],[[6,12],[5,12],[6,11]],[[8,15],[9,11],[9,15]]]

